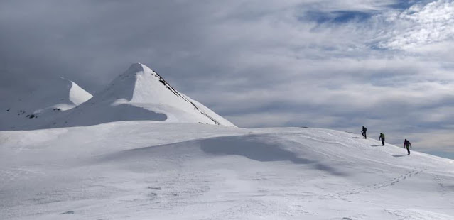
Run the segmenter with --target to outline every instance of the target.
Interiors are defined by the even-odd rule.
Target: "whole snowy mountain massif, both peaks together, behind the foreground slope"
[[[61,78],[28,94],[27,99],[18,99],[9,105],[13,109],[3,106],[6,111],[0,114],[0,131],[137,120],[235,127],[198,101],[178,92],[141,63],[131,65],[94,96],[74,82]]]

